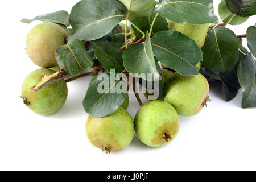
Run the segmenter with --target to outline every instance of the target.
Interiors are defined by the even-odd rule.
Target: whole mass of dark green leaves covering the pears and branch
[[[57,63],[67,76],[79,76],[85,68],[94,68],[94,73],[103,70],[102,67],[107,72],[115,70],[96,75],[90,81],[83,105],[95,118],[113,114],[125,101],[127,88],[122,84],[128,80],[121,79],[123,75],[139,77],[141,82],[145,80],[152,85],[158,81],[159,87],[154,89],[159,98],[163,97],[165,82],[159,62],[181,75],[192,76],[199,74],[196,64],[203,61],[200,72],[208,80],[221,82],[226,101],[236,97],[242,88],[242,107],[256,107],[256,27],[247,29],[249,53],[232,30],[218,23],[212,2],[159,0],[159,6],[155,7],[155,0],[81,0],[73,6],[70,15],[67,11],[57,11],[22,22],[58,23],[69,32],[67,44],[56,50]],[[254,0],[222,0],[218,8],[223,23],[233,25],[256,14],[255,6]],[[182,23],[218,24],[210,27],[200,49],[185,33],[168,30],[167,19],[180,26]],[[122,24],[118,24],[122,20],[131,24],[131,32],[125,32]],[[72,28],[68,28],[69,25]],[[146,34],[146,38],[142,38],[142,34]],[[202,36],[205,37],[205,33]],[[125,91],[114,92],[117,88]]]

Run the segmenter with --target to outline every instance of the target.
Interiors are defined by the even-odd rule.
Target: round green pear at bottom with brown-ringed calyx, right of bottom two
[[[174,107],[159,100],[143,105],[136,114],[134,122],[137,137],[150,147],[160,147],[170,143],[180,129],[179,116]]]

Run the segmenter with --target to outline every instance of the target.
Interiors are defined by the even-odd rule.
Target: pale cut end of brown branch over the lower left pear
[[[34,92],[38,92],[45,86],[51,84],[52,82],[58,81],[66,76],[65,70],[61,69],[61,71],[53,73],[52,75],[42,75],[41,81],[36,84],[35,86],[32,86],[31,89]]]

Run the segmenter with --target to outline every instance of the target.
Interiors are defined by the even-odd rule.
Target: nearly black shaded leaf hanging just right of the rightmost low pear
[[[226,80],[222,77],[221,73],[209,71],[206,68],[202,68],[204,76],[208,78],[208,80],[220,81],[222,84],[222,94],[225,98],[225,101],[229,102],[233,100],[237,96],[238,88],[229,85]]]

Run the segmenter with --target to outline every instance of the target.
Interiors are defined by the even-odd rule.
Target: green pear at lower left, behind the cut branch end
[[[55,73],[51,69],[37,69],[26,77],[22,85],[22,98],[24,104],[37,114],[50,115],[56,113],[65,103],[68,96],[66,82],[62,79],[47,85],[38,92],[31,87],[38,84],[42,75]]]

